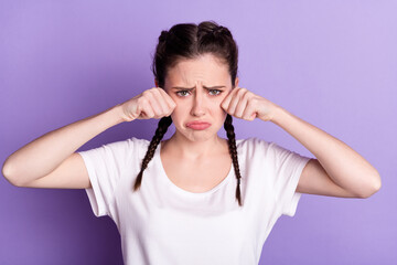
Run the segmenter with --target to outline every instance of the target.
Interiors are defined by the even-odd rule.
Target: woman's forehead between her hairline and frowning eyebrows
[[[167,74],[165,84],[194,86],[196,82],[203,85],[218,85],[215,83],[230,82],[228,66],[212,54],[204,54],[196,59],[181,60]]]

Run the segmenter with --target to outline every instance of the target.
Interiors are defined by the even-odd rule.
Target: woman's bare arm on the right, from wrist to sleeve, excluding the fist
[[[316,157],[303,169],[298,192],[368,198],[380,189],[378,171],[343,141],[281,107],[271,121]]]

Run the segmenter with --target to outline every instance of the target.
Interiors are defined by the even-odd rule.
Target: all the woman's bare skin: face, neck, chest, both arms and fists
[[[204,86],[224,85],[219,96]],[[158,86],[158,85],[157,85]],[[186,97],[179,97],[173,86],[194,87]],[[164,91],[165,89],[165,91]],[[161,118],[172,115],[176,131],[161,146],[164,168],[170,178],[182,186],[205,191],[223,179],[230,168],[227,142],[217,136],[226,113],[249,121],[258,118],[279,126],[315,159],[304,167],[297,191],[301,193],[368,198],[380,187],[378,171],[343,141],[302,120],[270,100],[238,87],[232,89],[227,67],[210,54],[181,61],[171,68],[165,87],[153,87],[93,117],[51,131],[12,153],[3,165],[3,176],[17,187],[87,188],[90,187],[84,161],[73,153],[84,142],[122,121]],[[211,94],[210,94],[211,93]],[[215,93],[216,94],[216,93]],[[192,131],[186,123],[205,119],[212,124],[202,131]],[[78,136],[78,137],[77,137]],[[172,145],[168,145],[172,142]],[[49,147],[54,153],[47,152]],[[40,159],[44,157],[45,159]],[[172,158],[174,160],[167,160]],[[31,161],[31,163],[26,163]],[[208,170],[208,171],[205,171]],[[183,172],[195,172],[186,183]],[[72,173],[71,173],[72,172]],[[169,173],[171,172],[171,173]],[[75,178],[72,179],[71,176]],[[206,180],[200,179],[206,176]],[[198,181],[200,180],[200,181]]]

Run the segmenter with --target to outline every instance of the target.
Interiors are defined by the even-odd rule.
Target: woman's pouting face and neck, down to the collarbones
[[[236,78],[238,85],[238,78]],[[172,87],[192,88],[181,91]],[[224,86],[216,89],[205,87]],[[211,54],[195,60],[185,60],[169,70],[164,91],[170,95],[176,107],[171,114],[175,134],[170,138],[175,152],[185,158],[197,159],[208,157],[219,150],[227,149],[225,139],[217,136],[226,118],[221,107],[223,99],[232,92],[230,75],[227,65],[222,64]],[[205,130],[194,130],[186,126],[193,120],[211,124]]]

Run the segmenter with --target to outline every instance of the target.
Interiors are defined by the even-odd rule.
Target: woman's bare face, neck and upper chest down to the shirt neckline
[[[238,78],[235,84],[238,85]],[[210,88],[214,86],[223,87]],[[162,141],[160,153],[168,178],[183,190],[208,191],[222,182],[232,168],[227,140],[217,136],[226,118],[221,104],[232,89],[227,65],[210,54],[181,61],[168,72],[164,91],[175,103],[171,114],[175,134]],[[194,130],[186,126],[193,120],[204,120],[211,126]]]

